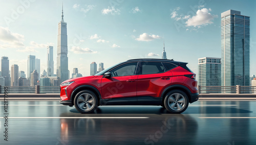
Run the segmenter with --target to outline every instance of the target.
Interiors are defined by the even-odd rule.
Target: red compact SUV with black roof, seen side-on
[[[60,103],[81,113],[100,105],[161,105],[181,113],[198,100],[196,74],[187,63],[162,59],[135,59],[119,63],[94,76],[60,84]]]

